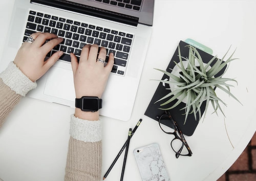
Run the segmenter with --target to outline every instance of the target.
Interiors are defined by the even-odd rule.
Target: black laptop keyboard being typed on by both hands
[[[111,72],[122,76],[125,74],[133,34],[30,10],[23,41],[35,32],[53,33],[63,38],[63,41],[48,53],[48,57],[62,51],[64,54],[59,60],[71,62],[70,53],[74,53],[79,60],[81,50],[86,44],[98,44],[99,48],[106,48],[106,62],[109,54],[114,54]]]

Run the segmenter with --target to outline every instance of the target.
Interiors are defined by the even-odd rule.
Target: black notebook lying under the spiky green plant
[[[186,47],[189,44],[187,44],[184,41],[180,41],[179,42],[179,47],[180,47],[180,52],[181,52],[181,56],[182,57],[188,57],[189,54],[189,48]],[[200,56],[203,59],[204,63],[208,63],[214,56],[201,51],[199,49],[197,49],[197,51],[199,52]],[[172,69],[174,68],[174,66],[176,65],[175,62],[179,62],[179,56],[178,56],[178,47],[172,57],[172,59],[170,60],[166,71],[167,72],[172,72]],[[185,61],[185,60],[184,60]],[[213,61],[212,64],[214,64],[216,61]],[[212,65],[211,65],[212,66]],[[156,67],[157,68],[157,67]],[[223,70],[221,70],[216,76],[220,75],[221,73],[223,73],[225,70],[225,68],[223,68]],[[169,80],[169,77],[167,75],[163,75],[162,80]],[[158,101],[159,99],[161,99],[162,97],[164,97],[165,95],[167,95],[168,93],[170,93],[171,90],[167,89],[170,88],[168,84],[163,84],[162,82],[159,83],[156,92],[150,102],[150,104],[148,105],[146,111],[145,111],[145,115],[158,121],[158,119],[156,118],[157,116],[161,116],[162,114],[164,114],[164,110],[161,110],[159,108],[168,108],[173,106],[178,100],[176,99],[173,102],[170,102],[169,104],[165,105],[165,106],[160,106],[160,104],[164,103],[166,100],[162,100],[159,101],[157,103],[155,103],[156,101]],[[185,110],[180,110],[183,107],[185,107],[185,103],[181,102],[178,106],[176,106],[175,108],[169,109],[170,114],[172,115],[173,119],[177,122],[177,124],[179,125],[181,131],[183,134],[185,135],[192,135],[198,125],[199,122],[199,114],[197,113],[197,119],[195,119],[194,114],[189,114],[186,120],[186,123],[184,124],[185,121]],[[201,114],[203,115],[203,112],[205,110],[205,105],[206,105],[206,101],[204,101],[204,103],[201,106]],[[166,123],[166,126],[172,127],[174,128],[173,124],[171,122]]]

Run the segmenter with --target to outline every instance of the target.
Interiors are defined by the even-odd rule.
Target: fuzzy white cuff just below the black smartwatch
[[[98,142],[101,140],[101,121],[82,120],[71,115],[70,135],[83,142]]]

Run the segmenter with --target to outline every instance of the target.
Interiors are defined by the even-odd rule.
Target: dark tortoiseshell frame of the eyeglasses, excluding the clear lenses
[[[173,149],[174,152],[176,153],[176,154],[175,154],[176,158],[178,159],[180,155],[181,155],[181,156],[192,156],[193,153],[192,153],[190,147],[188,146],[187,141],[186,141],[186,139],[185,139],[183,133],[181,132],[181,130],[180,130],[180,128],[179,128],[177,122],[173,119],[172,115],[170,115],[170,112],[169,112],[168,110],[165,110],[164,112],[165,112],[165,113],[164,113],[163,115],[161,115],[161,116],[158,118],[158,124],[159,124],[159,127],[161,128],[161,130],[162,130],[164,133],[166,133],[166,134],[173,134],[173,135],[175,136],[174,139],[170,142],[170,146],[172,147],[172,149]],[[174,125],[174,132],[167,132],[167,131],[165,131],[165,130],[161,127],[161,125],[160,125],[160,124],[161,124],[161,123],[160,123],[160,120],[161,120],[161,118],[162,118],[164,115],[167,115],[168,118],[170,119],[170,121],[172,121],[172,123],[173,123],[173,125]],[[178,134],[177,134],[176,131],[178,132],[178,134],[180,135],[180,137],[178,136]],[[182,146],[181,146],[181,148],[179,149],[178,152],[173,148],[173,145],[172,145],[173,141],[174,141],[174,140],[177,140],[177,139],[182,142]],[[187,151],[188,151],[188,154],[181,154],[181,151],[182,151],[184,145],[185,145],[185,147],[186,147],[186,149],[187,149]]]

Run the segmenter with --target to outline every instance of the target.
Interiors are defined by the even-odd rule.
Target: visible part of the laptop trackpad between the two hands
[[[74,101],[75,89],[72,71],[53,66],[48,71],[44,94]]]

